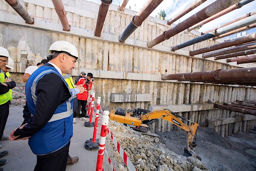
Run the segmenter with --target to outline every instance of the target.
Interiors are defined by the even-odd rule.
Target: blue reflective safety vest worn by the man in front
[[[27,105],[29,111],[31,112],[31,117],[34,116],[37,101],[36,85],[44,75],[50,73],[60,76],[72,95],[71,89],[56,68],[51,66],[41,66],[35,72],[33,72],[25,86]],[[32,152],[36,155],[46,155],[66,146],[70,142],[70,138],[73,136],[72,114],[73,97],[71,96],[63,104],[57,107],[48,123],[29,138],[28,144]]]

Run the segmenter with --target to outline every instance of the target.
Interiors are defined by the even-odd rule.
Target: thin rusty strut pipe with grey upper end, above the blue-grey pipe
[[[223,15],[225,15],[225,14],[231,12],[231,11],[234,11],[235,9],[239,9],[242,6],[248,4],[248,3],[252,2],[252,1],[254,1],[254,0],[242,0],[241,2],[238,2],[237,4],[234,4],[231,7],[228,7],[226,9],[218,12],[217,14],[215,14],[215,15],[213,15],[213,16],[211,16],[211,17],[209,17],[209,18],[207,18],[207,19],[205,19],[203,21],[201,21],[200,23],[197,23],[196,25],[188,28],[188,32],[190,32],[191,30],[194,30],[194,29],[196,29],[196,28],[198,28],[198,27],[200,27],[200,26],[202,26],[202,25],[204,25],[204,24],[206,24],[206,23],[208,23],[208,22],[210,22],[210,21],[212,21],[212,20],[214,20],[216,18],[219,18],[219,17],[221,17],[221,16],[223,16]]]

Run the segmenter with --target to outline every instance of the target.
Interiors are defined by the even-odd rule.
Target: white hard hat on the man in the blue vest
[[[71,56],[77,58],[76,59],[77,62],[81,61],[81,59],[78,57],[76,46],[70,42],[67,42],[67,41],[54,42],[49,48],[49,51],[51,50],[68,52]]]

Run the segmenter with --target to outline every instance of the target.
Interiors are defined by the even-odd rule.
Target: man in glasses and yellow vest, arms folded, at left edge
[[[2,139],[4,127],[9,115],[9,106],[12,100],[11,89],[16,86],[15,82],[8,78],[2,71],[2,68],[9,64],[10,59],[8,50],[4,47],[0,47],[0,140]],[[0,148],[1,147],[2,145],[0,145]],[[8,155],[8,153],[8,151],[0,152],[0,158]],[[0,159],[0,166],[5,163],[7,163],[6,159]]]

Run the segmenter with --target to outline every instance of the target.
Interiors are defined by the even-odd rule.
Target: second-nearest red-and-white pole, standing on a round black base
[[[97,150],[99,149],[99,139],[96,140],[97,128],[98,128],[98,120],[99,120],[99,112],[100,112],[100,98],[97,99],[97,108],[96,108],[96,117],[95,124],[93,130],[93,137],[89,140],[85,141],[84,148],[87,150]]]

